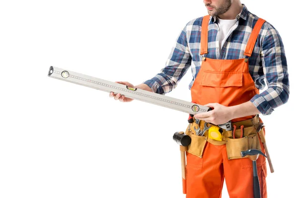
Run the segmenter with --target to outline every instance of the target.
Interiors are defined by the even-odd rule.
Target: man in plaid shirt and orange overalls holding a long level
[[[204,3],[209,15],[188,22],[165,67],[135,87],[166,94],[191,66],[192,102],[213,108],[194,115],[195,120],[201,120],[197,126],[231,120],[234,129],[222,131],[224,137],[219,141],[208,133],[194,134],[195,122],[190,125],[186,132],[192,138],[187,152],[186,197],[219,198],[225,178],[230,198],[252,198],[252,161],[238,156],[237,149],[260,149],[265,153],[263,140],[256,131],[257,124],[262,122],[258,114],[271,114],[274,108],[287,102],[290,94],[284,46],[278,31],[249,12],[240,0],[204,0]],[[265,81],[268,89],[260,94]],[[117,83],[134,87],[128,82]],[[132,101],[120,94],[110,93],[110,97]],[[263,156],[257,159],[257,171],[261,197],[267,198]]]

